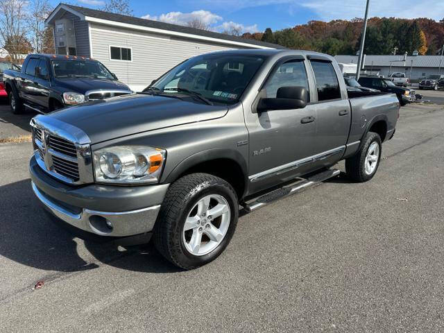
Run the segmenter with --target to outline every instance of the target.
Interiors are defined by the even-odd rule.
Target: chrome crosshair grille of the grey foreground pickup
[[[82,130],[43,115],[33,118],[31,126],[40,168],[69,184],[94,182],[89,138]]]

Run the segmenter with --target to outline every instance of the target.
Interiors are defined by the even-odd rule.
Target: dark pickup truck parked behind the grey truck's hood
[[[101,62],[76,56],[30,54],[21,71],[4,71],[3,80],[15,114],[25,107],[46,113],[132,93]]]

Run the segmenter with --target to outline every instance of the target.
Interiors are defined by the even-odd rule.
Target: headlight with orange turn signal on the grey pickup
[[[97,182],[137,184],[159,182],[165,151],[146,146],[114,146],[94,151]]]

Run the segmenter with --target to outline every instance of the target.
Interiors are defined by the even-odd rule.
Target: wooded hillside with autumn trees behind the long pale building
[[[336,19],[330,22],[309,21],[307,24],[244,37],[281,44],[289,49],[307,49],[336,54],[356,54],[361,42],[363,20]],[[366,54],[436,54],[444,44],[444,21],[433,19],[395,19],[372,17],[368,20]]]

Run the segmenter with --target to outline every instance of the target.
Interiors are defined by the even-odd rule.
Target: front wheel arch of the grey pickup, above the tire
[[[189,173],[210,173],[232,185],[239,199],[248,187],[248,168],[244,156],[233,149],[214,148],[200,151],[182,160],[162,182],[171,183]]]

